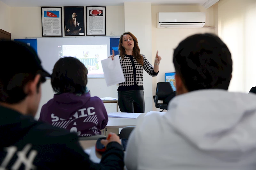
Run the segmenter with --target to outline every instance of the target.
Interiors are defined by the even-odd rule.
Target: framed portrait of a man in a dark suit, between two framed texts
[[[64,6],[65,36],[84,36],[84,6]]]

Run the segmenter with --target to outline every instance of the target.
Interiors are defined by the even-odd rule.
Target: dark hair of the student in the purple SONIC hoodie
[[[88,70],[77,58],[60,58],[53,67],[52,88],[58,94],[83,94],[86,92],[87,73]]]

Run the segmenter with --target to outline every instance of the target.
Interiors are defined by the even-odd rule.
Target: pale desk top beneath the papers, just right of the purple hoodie
[[[142,113],[137,119],[109,117],[106,128],[124,128],[126,126],[136,126],[139,119],[143,118],[146,113]]]

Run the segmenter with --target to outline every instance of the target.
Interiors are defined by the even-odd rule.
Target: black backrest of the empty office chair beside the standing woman
[[[173,92],[172,85],[169,82],[159,82],[156,85],[156,95],[158,100],[164,100]]]

